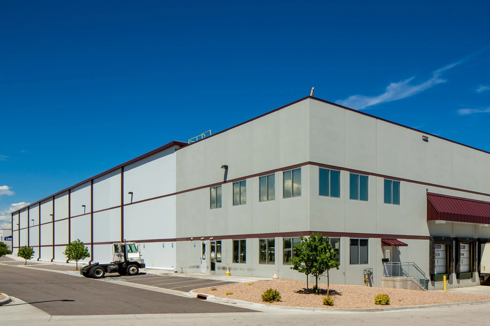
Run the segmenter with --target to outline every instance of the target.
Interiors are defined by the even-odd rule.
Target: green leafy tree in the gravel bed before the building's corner
[[[328,237],[323,239],[319,233],[313,233],[308,238],[301,237],[301,243],[296,244],[294,249],[296,249],[296,256],[292,260],[291,269],[306,274],[306,289],[308,289],[308,275],[315,277],[318,288],[318,278],[326,273],[328,296],[330,289],[328,271],[332,268],[339,269],[340,265],[336,259],[337,252],[329,243]]]

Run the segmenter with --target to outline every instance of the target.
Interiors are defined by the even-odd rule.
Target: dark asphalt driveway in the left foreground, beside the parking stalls
[[[252,311],[113,282],[5,265],[0,265],[0,289],[58,316]]]

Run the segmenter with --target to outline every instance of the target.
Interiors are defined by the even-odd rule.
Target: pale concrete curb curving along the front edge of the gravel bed
[[[197,298],[197,295],[201,293],[196,293],[189,291],[189,296],[192,298]],[[469,302],[455,302],[449,304],[426,304],[426,305],[409,305],[405,307],[387,307],[387,308],[373,308],[373,309],[335,309],[335,308],[307,308],[307,307],[292,307],[287,305],[272,305],[272,304],[257,304],[254,302],[226,299],[221,297],[215,297],[214,295],[205,294],[207,296],[206,300],[227,303],[227,304],[240,304],[250,307],[255,307],[257,309],[275,309],[275,310],[287,310],[287,311],[315,311],[315,312],[383,312],[383,311],[398,311],[398,310],[410,310],[410,309],[429,309],[436,307],[449,307],[455,305],[470,305],[470,304],[490,304],[490,300],[484,301],[469,301]]]

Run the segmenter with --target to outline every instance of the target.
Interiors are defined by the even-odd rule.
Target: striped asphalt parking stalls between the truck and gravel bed
[[[109,274],[110,275],[110,274]],[[106,276],[106,280],[123,280],[129,283],[139,283],[166,289],[189,292],[201,287],[220,286],[236,282],[216,281],[207,279],[197,279],[190,277],[174,276],[172,274],[140,274],[136,276]]]

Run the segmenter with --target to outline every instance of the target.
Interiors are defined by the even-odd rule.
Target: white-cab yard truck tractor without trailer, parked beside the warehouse
[[[140,268],[145,268],[145,261],[141,259],[140,246],[134,242],[117,242],[112,245],[112,262],[101,264],[91,263],[80,268],[80,274],[85,277],[101,279],[106,273],[119,273],[119,275],[138,275]]]

